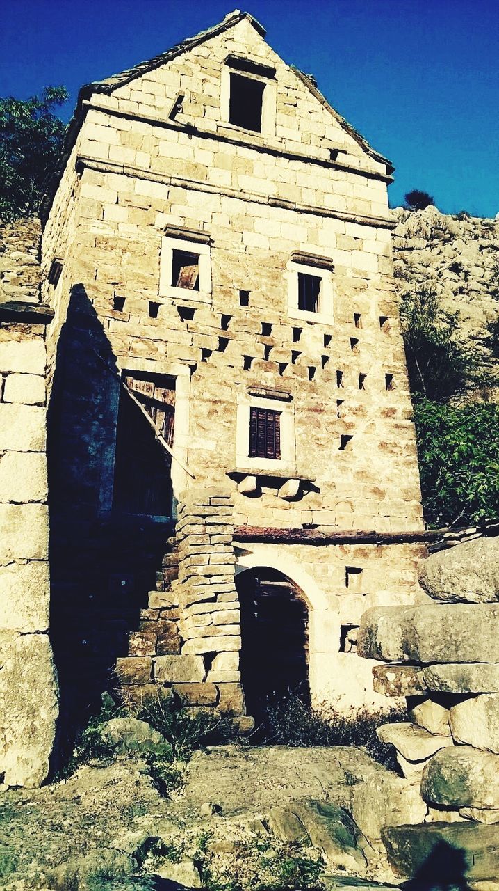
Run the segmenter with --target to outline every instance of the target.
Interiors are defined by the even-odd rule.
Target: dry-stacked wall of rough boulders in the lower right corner
[[[466,854],[466,879],[499,887],[498,567],[497,535],[456,544],[423,560],[431,603],[362,618],[361,654],[399,663],[374,668],[375,685],[404,693],[409,707],[409,723],[385,724],[378,735],[428,805],[424,827],[383,834],[406,878],[445,844]]]

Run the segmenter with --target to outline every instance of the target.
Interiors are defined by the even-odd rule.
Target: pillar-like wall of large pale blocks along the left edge
[[[10,786],[45,779],[58,715],[48,637],[44,372],[44,323],[1,323],[0,780]]]

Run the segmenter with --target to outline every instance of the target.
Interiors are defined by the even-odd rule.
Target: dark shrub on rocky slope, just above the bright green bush
[[[458,315],[444,312],[428,286],[402,296],[400,321],[411,392],[438,400],[462,389],[474,364],[455,339]]]

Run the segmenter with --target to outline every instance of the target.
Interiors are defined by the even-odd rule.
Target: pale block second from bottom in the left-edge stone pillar
[[[49,625],[49,565],[44,561],[0,567],[0,630],[23,634]]]

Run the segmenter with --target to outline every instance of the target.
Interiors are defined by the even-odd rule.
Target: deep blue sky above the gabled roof
[[[7,0],[0,95],[78,87],[164,52],[237,0]],[[416,187],[448,213],[499,211],[497,0],[249,0],[288,62],[395,164],[392,204]]]

